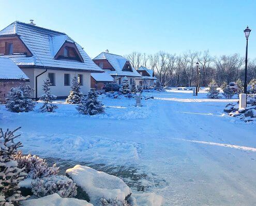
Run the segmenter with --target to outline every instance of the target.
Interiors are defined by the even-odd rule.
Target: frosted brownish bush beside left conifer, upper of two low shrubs
[[[56,175],[59,172],[59,167],[53,164],[49,167],[46,160],[43,160],[37,156],[32,156],[30,153],[25,156],[19,151],[14,159],[18,162],[19,168],[25,168],[27,176],[32,179],[48,177],[51,175]]]

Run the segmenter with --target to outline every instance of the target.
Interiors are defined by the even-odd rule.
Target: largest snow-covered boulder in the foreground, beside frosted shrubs
[[[131,194],[130,187],[122,179],[91,167],[76,165],[67,169],[66,173],[83,188],[95,205],[102,197],[124,200]]]

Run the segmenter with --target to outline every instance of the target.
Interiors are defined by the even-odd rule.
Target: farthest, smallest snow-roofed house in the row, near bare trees
[[[135,82],[137,85],[141,85],[143,88],[149,88],[154,86],[154,82],[157,78],[154,75],[154,71],[146,68],[145,66],[140,66],[137,72],[141,77],[136,77]]]

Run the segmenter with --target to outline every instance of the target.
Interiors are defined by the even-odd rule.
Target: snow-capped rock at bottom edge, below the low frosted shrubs
[[[30,199],[21,202],[22,206],[93,206],[86,200],[75,198],[62,198],[58,194],[48,195],[38,199]]]

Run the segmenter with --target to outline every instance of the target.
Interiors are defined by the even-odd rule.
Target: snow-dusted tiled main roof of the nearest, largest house
[[[0,36],[6,35],[19,35],[20,39],[33,55],[33,57],[10,55],[9,57],[17,65],[36,65],[102,72],[101,68],[89,58],[82,47],[65,33],[16,21],[0,31]],[[55,56],[54,54],[57,53],[65,41],[72,42],[77,46],[84,62],[53,58]]]

